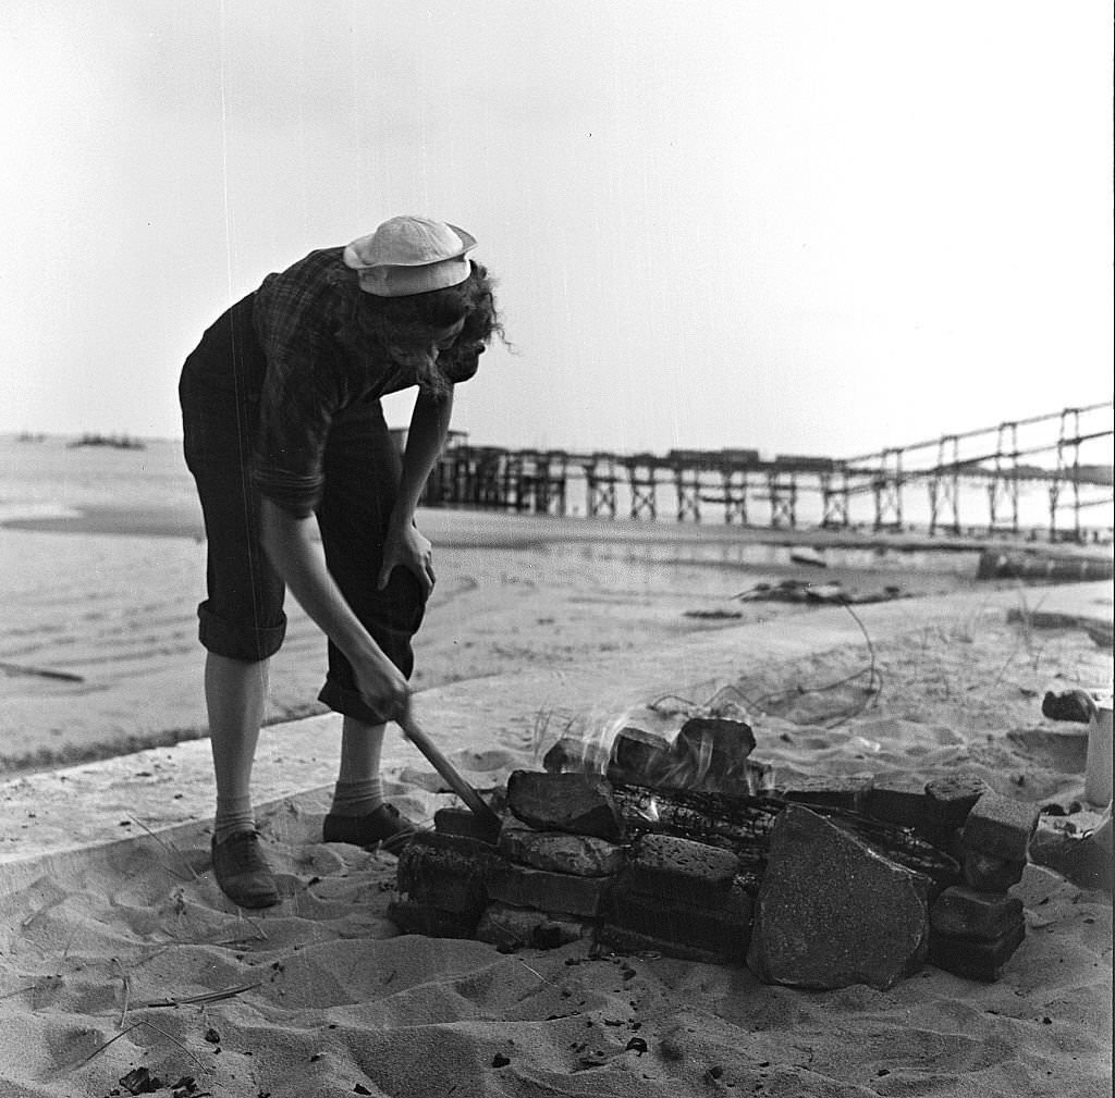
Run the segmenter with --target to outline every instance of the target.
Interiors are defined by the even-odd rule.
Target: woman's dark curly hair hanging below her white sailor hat
[[[420,339],[430,329],[449,328],[464,320],[453,347],[442,352],[439,369],[445,381],[465,380],[476,370],[476,356],[493,336],[503,339],[503,324],[495,308],[494,281],[487,269],[469,261],[468,278],[455,286],[404,298],[377,298],[359,294],[353,323],[347,338],[381,348]]]

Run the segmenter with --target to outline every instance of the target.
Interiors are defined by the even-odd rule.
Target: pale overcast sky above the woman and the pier
[[[1108,399],[1111,52],[1099,0],[6,0],[0,430],[178,435],[204,328],[398,213],[500,280],[479,444]]]

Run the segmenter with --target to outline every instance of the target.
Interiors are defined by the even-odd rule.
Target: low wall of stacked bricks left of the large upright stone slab
[[[399,858],[388,915],[411,933],[552,948],[588,937],[615,949],[741,961],[752,897],[730,851],[665,835],[627,842],[607,783],[515,771],[507,815],[486,833],[443,809]]]

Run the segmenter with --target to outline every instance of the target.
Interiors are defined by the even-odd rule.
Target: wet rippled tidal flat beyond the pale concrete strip
[[[205,733],[201,513],[177,444],[142,451],[0,440],[0,773]],[[978,547],[882,551],[824,535],[716,525],[425,511],[438,584],[416,639],[419,689],[568,664],[637,643],[797,612],[733,596],[789,577],[904,594],[971,586]],[[917,543],[913,543],[917,545]],[[324,643],[289,601],[268,720],[320,712]],[[708,616],[696,616],[706,614]],[[725,616],[717,616],[717,615]],[[735,616],[740,615],[740,616]]]

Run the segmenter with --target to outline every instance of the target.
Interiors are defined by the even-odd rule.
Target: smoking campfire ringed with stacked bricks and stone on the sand
[[[584,940],[746,964],[768,983],[885,989],[927,961],[993,981],[1025,935],[1037,809],[952,774],[923,788],[778,780],[730,699],[662,698],[558,740],[443,808],[399,858],[406,932],[502,950]]]

